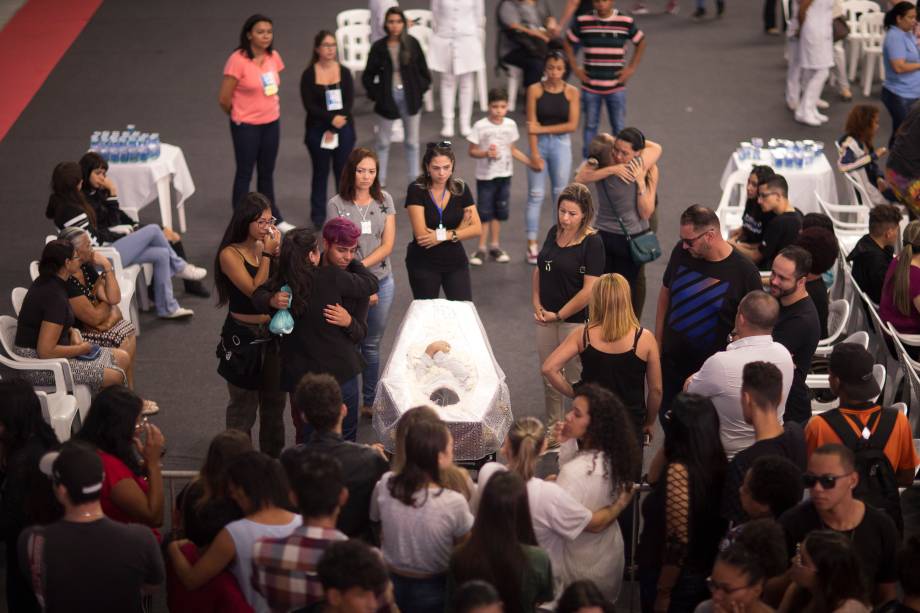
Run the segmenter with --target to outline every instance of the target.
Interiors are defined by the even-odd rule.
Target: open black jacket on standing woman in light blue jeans
[[[415,38],[406,38],[409,41],[409,63],[399,67],[399,74],[403,80],[409,114],[415,115],[422,108],[422,96],[431,87],[431,73],[428,72],[422,46]],[[399,119],[399,109],[393,100],[393,62],[387,50],[386,38],[381,38],[371,46],[361,82],[367,97],[376,103],[375,113],[386,119]]]

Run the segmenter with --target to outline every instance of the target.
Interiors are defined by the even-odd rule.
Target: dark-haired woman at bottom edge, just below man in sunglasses
[[[869,613],[858,552],[834,530],[809,534],[793,558],[792,581],[779,613]]]

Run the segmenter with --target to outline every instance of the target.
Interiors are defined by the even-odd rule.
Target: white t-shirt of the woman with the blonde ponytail
[[[508,469],[498,462],[489,462],[479,470],[476,494],[470,501],[474,509],[479,508],[479,499],[486,483],[500,470]],[[537,477],[527,482],[527,501],[530,503],[530,518],[537,544],[549,554],[554,569],[562,568],[566,543],[574,541],[584,532],[594,513],[557,484]],[[557,571],[553,575],[558,587],[561,575]]]

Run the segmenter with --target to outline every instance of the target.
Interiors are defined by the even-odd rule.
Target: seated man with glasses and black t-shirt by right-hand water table
[[[802,214],[789,202],[789,185],[782,175],[773,175],[758,186],[757,201],[764,214],[772,216],[764,222],[763,240],[759,245],[737,246],[761,270],[770,270],[776,254],[798,236]]]

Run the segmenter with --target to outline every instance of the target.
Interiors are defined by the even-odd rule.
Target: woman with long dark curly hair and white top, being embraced
[[[613,392],[592,383],[579,387],[565,423],[555,432],[561,444],[556,483],[588,509],[609,505],[625,509],[642,470],[631,426],[626,407]],[[556,572],[566,585],[590,579],[605,598],[614,601],[623,579],[624,552],[617,523],[596,534],[582,532],[565,544],[562,566]]]

